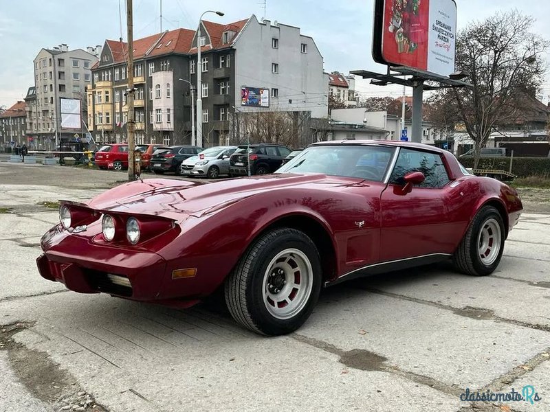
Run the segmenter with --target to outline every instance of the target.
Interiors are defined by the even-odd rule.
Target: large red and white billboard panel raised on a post
[[[376,0],[374,30],[376,62],[454,73],[454,0]]]

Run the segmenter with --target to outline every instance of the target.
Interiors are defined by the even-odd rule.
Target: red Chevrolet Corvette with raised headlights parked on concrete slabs
[[[238,323],[277,335],[305,322],[322,286],[445,259],[489,275],[521,211],[514,189],[444,150],[331,141],[272,175],[63,201],[37,264],[76,292],[180,308],[223,288]]]

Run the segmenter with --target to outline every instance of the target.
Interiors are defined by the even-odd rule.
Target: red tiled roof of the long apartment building
[[[228,25],[203,20],[203,25],[210,36],[210,43],[212,45],[203,47],[201,51],[208,52],[212,49],[230,47],[230,44],[223,45],[221,43],[223,32],[230,30],[239,34],[248,20],[236,21]],[[148,56],[162,56],[169,53],[191,54],[191,50],[194,50],[196,53],[197,47],[191,47],[195,33],[195,30],[177,29],[170,32],[153,34],[144,38],[137,38],[133,42],[133,58],[137,60]],[[113,54],[113,61],[115,63],[124,62],[126,60],[128,43],[115,40],[107,40],[106,42]],[[98,66],[99,63],[94,65],[92,69],[96,69]]]

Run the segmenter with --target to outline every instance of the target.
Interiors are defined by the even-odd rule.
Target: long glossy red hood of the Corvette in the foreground
[[[270,174],[214,183],[146,179],[108,190],[93,198],[88,205],[102,211],[148,214],[181,221],[190,215],[213,213],[268,190],[331,189],[357,184],[356,179],[325,174]]]

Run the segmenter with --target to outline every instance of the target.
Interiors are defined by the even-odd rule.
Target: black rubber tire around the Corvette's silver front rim
[[[274,258],[278,254],[286,253],[291,249],[299,251],[311,264],[311,279],[307,279],[307,274],[300,274],[300,271],[298,271],[297,278],[299,279],[298,284],[304,285],[304,291],[309,289],[308,282],[311,282],[311,291],[309,294],[305,292],[304,296],[300,296],[301,292],[296,293],[294,295],[296,302],[292,300],[294,298],[290,297],[292,304],[289,304],[289,308],[291,305],[298,305],[297,312],[290,314],[287,319],[279,319],[270,313],[267,308],[269,305],[267,299],[269,298],[265,299],[264,297],[264,293],[270,293],[268,289],[272,286],[269,283],[271,282],[269,279],[272,277],[267,273],[267,269],[270,264],[277,264],[278,260],[274,263]],[[292,251],[289,254],[292,255]],[[288,274],[285,274],[285,279],[287,276]],[[294,276],[296,277],[296,272],[294,272]],[[274,229],[263,234],[251,244],[228,279],[225,280],[225,303],[233,319],[244,328],[268,336],[287,334],[300,328],[311,314],[317,304],[321,279],[320,258],[314,242],[305,233],[296,229]],[[296,278],[293,278],[292,285],[295,283]],[[292,289],[290,294],[292,295],[294,293],[292,285],[278,286],[283,289],[279,290],[281,295],[288,289]],[[276,308],[276,305],[272,306]]]

